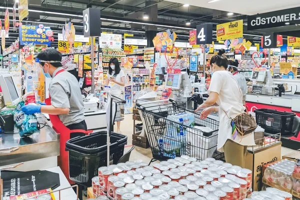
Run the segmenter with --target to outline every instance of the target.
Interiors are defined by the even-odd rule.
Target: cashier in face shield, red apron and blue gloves
[[[45,105],[28,104],[22,107],[25,114],[48,113],[53,129],[60,133],[60,156],[58,163],[66,177],[68,175],[68,154],[65,142],[74,136],[86,134],[83,99],[77,78],[61,66],[61,53],[47,48],[36,56],[41,72],[51,78],[49,98]]]

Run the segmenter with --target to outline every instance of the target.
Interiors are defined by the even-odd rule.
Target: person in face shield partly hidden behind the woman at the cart
[[[229,60],[229,67],[228,71],[230,71],[234,77],[234,79],[237,81],[239,88],[241,89],[242,93],[242,103],[245,104],[246,100],[246,94],[247,94],[247,81],[245,76],[243,76],[238,70],[238,61],[235,59]]]

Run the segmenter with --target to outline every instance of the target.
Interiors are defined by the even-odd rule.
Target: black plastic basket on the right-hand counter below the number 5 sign
[[[255,109],[257,125],[264,128],[268,133],[289,134],[292,129],[293,118],[296,115],[292,112],[282,112],[275,109]]]

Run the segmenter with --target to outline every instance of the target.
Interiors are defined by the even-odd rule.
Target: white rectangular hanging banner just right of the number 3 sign
[[[121,34],[111,34],[111,33],[101,33],[99,37],[99,47],[104,48],[109,46],[111,48],[121,48],[122,47],[122,35]]]

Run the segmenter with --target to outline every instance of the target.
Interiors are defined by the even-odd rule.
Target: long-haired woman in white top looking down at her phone
[[[108,73],[105,85],[110,86],[110,94],[123,99],[121,95],[121,88],[125,85],[125,74],[122,69],[120,69],[119,62],[116,57],[112,57],[108,63]],[[117,108],[119,109],[119,107]],[[116,121],[116,131],[118,133],[120,130],[121,121]]]

